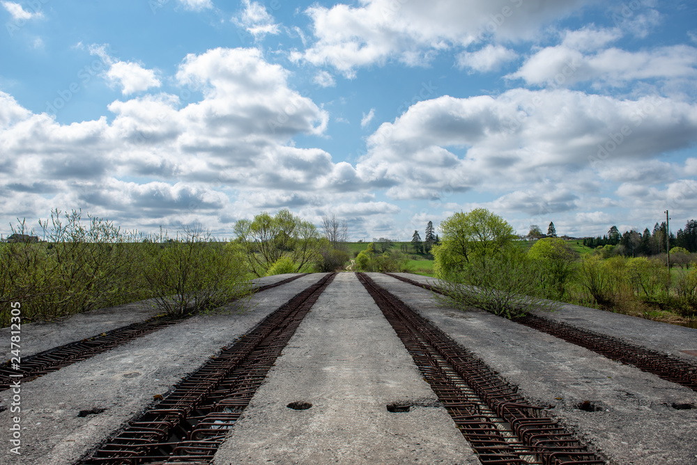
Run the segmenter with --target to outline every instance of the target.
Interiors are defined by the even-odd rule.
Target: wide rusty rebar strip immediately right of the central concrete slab
[[[369,276],[359,273],[358,279],[392,324],[482,464],[605,463],[472,352],[376,285]]]

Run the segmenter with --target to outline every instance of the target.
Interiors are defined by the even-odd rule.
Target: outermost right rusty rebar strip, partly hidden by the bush
[[[431,292],[443,294],[443,291],[436,286],[419,283],[413,279],[397,276],[396,274],[385,274],[392,276],[392,278],[397,278],[400,281],[404,281],[405,283],[423,287]],[[627,342],[620,338],[590,331],[590,329],[581,329],[578,326],[563,322],[553,322],[547,318],[537,317],[535,315],[516,318],[513,321],[567,342],[571,342],[572,344],[585,347],[611,360],[620,361],[627,365],[634,365],[639,370],[652,373],[666,381],[672,381],[673,383],[697,391],[697,365],[689,363],[684,359],[641,347],[640,345],[631,344],[631,342]]]

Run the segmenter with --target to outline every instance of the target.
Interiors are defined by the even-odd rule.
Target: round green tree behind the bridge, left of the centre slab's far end
[[[254,216],[252,221],[242,219],[235,223],[234,244],[240,249],[241,259],[256,276],[266,276],[270,267],[280,258],[289,258],[296,264],[295,271],[319,258],[321,243],[314,224],[281,210],[275,216],[267,212]]]

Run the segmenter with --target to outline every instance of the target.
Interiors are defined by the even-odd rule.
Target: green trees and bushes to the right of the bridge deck
[[[447,303],[506,317],[563,301],[653,320],[694,320],[697,254],[672,248],[669,270],[661,228],[665,225],[657,224],[653,233],[620,235],[613,227],[608,235],[581,244],[553,237],[553,223],[551,237],[535,237],[544,235],[533,225],[528,237],[521,238],[488,210],[460,212],[441,223],[441,244],[433,251],[434,276],[447,290]],[[673,240],[697,247],[690,245],[693,236],[697,223],[691,220]],[[636,256],[642,251],[649,255]]]

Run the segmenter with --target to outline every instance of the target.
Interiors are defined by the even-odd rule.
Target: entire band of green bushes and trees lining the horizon
[[[24,221],[0,242],[0,326],[9,302],[20,301],[24,322],[152,299],[168,315],[211,310],[249,294],[252,278],[345,270],[413,272],[440,280],[447,301],[505,317],[568,302],[653,320],[697,319],[697,221],[671,235],[666,267],[665,225],[567,240],[533,225],[517,237],[503,218],[485,209],[459,212],[422,238],[381,237],[348,242],[348,224],[325,216],[320,228],[281,210],[237,221],[234,238],[219,241],[201,226],[170,235],[124,231],[82,212],[54,210]]]

